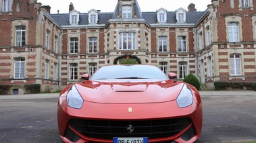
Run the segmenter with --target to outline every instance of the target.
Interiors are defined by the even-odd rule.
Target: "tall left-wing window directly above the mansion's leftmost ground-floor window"
[[[25,46],[25,44],[26,44],[25,34],[26,34],[25,26],[17,26],[16,27],[15,46]]]

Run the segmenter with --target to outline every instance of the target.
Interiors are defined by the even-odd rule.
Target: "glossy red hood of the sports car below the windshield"
[[[119,80],[85,81],[76,88],[84,99],[95,103],[159,103],[175,100],[184,83],[168,81]]]

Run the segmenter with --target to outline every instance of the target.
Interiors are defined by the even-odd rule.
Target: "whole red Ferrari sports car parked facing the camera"
[[[57,122],[63,142],[195,142],[202,103],[192,85],[151,65],[103,66],[59,95]]]

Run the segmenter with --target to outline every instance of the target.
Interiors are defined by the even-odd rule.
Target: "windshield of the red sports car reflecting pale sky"
[[[103,66],[91,77],[91,80],[104,79],[168,79],[168,77],[156,66],[136,64]]]

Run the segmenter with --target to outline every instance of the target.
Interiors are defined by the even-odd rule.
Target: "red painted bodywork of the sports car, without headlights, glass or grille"
[[[188,141],[182,140],[181,134],[190,126],[175,136],[168,138],[149,139],[149,142],[195,142],[201,134],[202,104],[199,91],[189,85],[193,91],[193,103],[180,108],[176,102],[184,83],[172,80],[101,80],[76,83],[76,89],[84,100],[80,109],[68,106],[67,94],[70,86],[61,91],[57,106],[59,135],[64,142],[66,128],[71,119],[93,120],[151,120],[188,117],[190,126],[195,130],[195,136]],[[72,129],[72,127],[69,127]],[[76,130],[72,129],[74,132]],[[77,142],[113,142],[98,138],[88,138],[76,132],[81,138]]]

